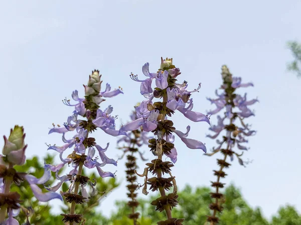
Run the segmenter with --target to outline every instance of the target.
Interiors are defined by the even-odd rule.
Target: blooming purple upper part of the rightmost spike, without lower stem
[[[243,143],[247,142],[245,136],[250,136],[254,134],[255,131],[250,130],[249,125],[245,124],[244,119],[254,115],[254,112],[249,108],[249,106],[256,103],[258,99],[256,98],[247,100],[246,93],[244,95],[235,93],[234,91],[237,88],[253,86],[253,84],[250,82],[246,84],[241,83],[241,77],[232,77],[232,74],[229,72],[228,68],[226,66],[224,66],[223,68],[224,70],[222,72],[222,75],[224,82],[221,86],[223,92],[219,94],[216,90],[215,93],[217,95],[217,98],[208,98],[208,100],[210,100],[211,103],[214,103],[217,107],[216,109],[211,110],[208,113],[215,114],[224,109],[225,116],[217,116],[218,124],[213,125],[209,128],[211,131],[215,132],[215,134],[207,136],[210,138],[216,138],[223,130],[225,130],[226,132],[223,137],[224,139],[222,141],[218,141],[219,146],[217,148],[214,148],[213,152],[219,151],[224,143],[227,144],[227,149],[231,151],[234,151],[234,146],[237,146],[237,148],[240,150],[247,150],[248,148],[243,145]],[[229,88],[229,86],[231,88]],[[229,119],[230,124],[225,125],[225,119]],[[238,123],[235,123],[235,121],[237,120],[239,120]],[[238,159],[241,160],[238,154],[236,155]],[[230,156],[232,160],[233,153]]]

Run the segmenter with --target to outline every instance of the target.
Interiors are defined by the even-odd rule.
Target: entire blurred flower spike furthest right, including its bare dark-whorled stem
[[[245,162],[241,159],[242,153],[237,153],[234,148],[235,146],[240,150],[247,150],[245,143],[248,142],[247,136],[255,134],[255,130],[250,129],[250,125],[245,123],[244,119],[254,115],[254,112],[248,107],[249,105],[257,102],[257,99],[247,100],[246,93],[241,96],[235,93],[235,90],[239,87],[253,86],[252,83],[241,83],[240,77],[232,77],[228,67],[226,65],[222,66],[222,78],[223,84],[220,89],[223,90],[222,93],[218,93],[216,90],[217,98],[208,100],[216,105],[214,110],[210,110],[208,114],[216,114],[222,109],[224,109],[223,116],[217,115],[218,123],[217,125],[211,126],[209,129],[214,132],[213,135],[207,135],[210,138],[217,138],[219,134],[225,130],[225,134],[221,139],[217,139],[217,147],[213,148],[212,153],[207,153],[207,155],[213,155],[217,152],[222,152],[224,155],[223,159],[217,159],[217,163],[220,166],[219,170],[213,170],[214,175],[217,176],[217,181],[212,182],[211,186],[216,188],[216,192],[211,193],[211,197],[215,199],[213,203],[210,204],[210,209],[213,210],[213,214],[208,216],[208,222],[210,224],[218,223],[217,212],[221,212],[223,207],[223,194],[219,192],[219,188],[224,186],[224,183],[220,182],[221,177],[225,177],[227,174],[223,171],[224,168],[229,167],[231,164],[226,162],[227,157],[233,160],[234,155],[238,158],[241,165]],[[225,120],[229,120],[229,123],[225,124]],[[238,120],[238,122],[236,122]]]

